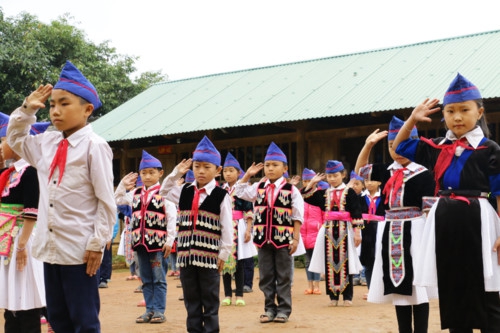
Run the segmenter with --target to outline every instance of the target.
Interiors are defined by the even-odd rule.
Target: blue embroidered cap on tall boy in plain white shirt
[[[102,106],[95,87],[69,60],[66,61],[54,89],[66,90],[76,96],[80,96],[93,104],[94,110]]]

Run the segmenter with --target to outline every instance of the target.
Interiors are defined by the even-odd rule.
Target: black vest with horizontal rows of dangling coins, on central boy
[[[198,209],[198,219],[193,224],[191,205],[194,186],[185,184],[179,198],[179,231],[177,232],[177,262],[180,267],[189,265],[217,269],[221,236],[220,205],[227,192],[215,187]]]

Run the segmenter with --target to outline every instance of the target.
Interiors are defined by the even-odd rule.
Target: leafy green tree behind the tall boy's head
[[[165,81],[161,71],[135,79],[134,56],[120,55],[109,41],[94,44],[72,26],[68,14],[50,24],[22,13],[6,18],[0,8],[0,111],[10,113],[40,84],[55,84],[66,60],[92,82],[103,103],[93,118],[102,116],[154,83]],[[48,108],[38,113],[49,119]]]

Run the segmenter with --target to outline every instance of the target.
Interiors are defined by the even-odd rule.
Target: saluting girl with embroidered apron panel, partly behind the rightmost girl
[[[389,132],[374,131],[366,139],[356,162],[356,170],[367,180],[380,181],[383,188],[382,202],[385,221],[377,224],[375,262],[368,292],[368,301],[392,303],[396,307],[399,332],[427,332],[429,298],[436,297],[436,290],[415,287],[418,246],[425,225],[422,197],[432,195],[434,182],[427,168],[397,155],[393,142],[403,121],[393,117]],[[417,136],[416,128],[412,135]],[[371,149],[388,137],[389,154],[394,162],[368,164]],[[377,222],[373,218],[371,223]]]

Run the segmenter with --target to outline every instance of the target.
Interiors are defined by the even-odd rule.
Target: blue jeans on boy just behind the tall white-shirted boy
[[[147,312],[165,313],[167,304],[168,259],[163,252],[148,252],[144,247],[137,248],[139,271],[142,280],[142,294],[146,301]]]

